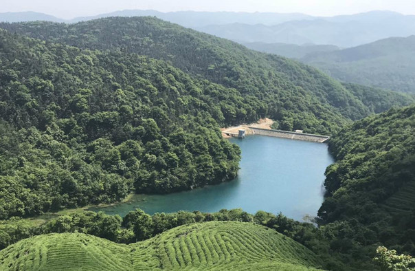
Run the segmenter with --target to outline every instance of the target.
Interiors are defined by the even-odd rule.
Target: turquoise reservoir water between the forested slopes
[[[333,163],[326,144],[260,135],[230,141],[242,150],[239,175],[232,182],[169,195],[135,195],[131,202],[91,210],[122,217],[135,208],[149,214],[243,208],[248,213],[282,212],[297,220],[317,215],[324,171]]]

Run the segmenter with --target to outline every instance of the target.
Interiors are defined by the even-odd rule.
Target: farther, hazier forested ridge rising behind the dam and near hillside
[[[317,69],[155,18],[114,17],[72,25],[3,23],[0,27],[80,48],[135,52],[169,61],[184,72],[235,88],[244,97],[257,97],[281,129],[330,134],[347,119],[373,113]],[[394,96],[388,99],[401,104]]]

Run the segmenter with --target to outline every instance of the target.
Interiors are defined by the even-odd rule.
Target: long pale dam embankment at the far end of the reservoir
[[[326,135],[313,135],[311,133],[296,133],[291,131],[282,131],[282,130],[274,130],[274,129],[262,129],[257,127],[246,127],[246,129],[250,129],[252,134],[254,135],[267,135],[272,136],[274,138],[289,138],[293,140],[304,140],[310,142],[319,142],[324,143],[330,139],[329,136]]]

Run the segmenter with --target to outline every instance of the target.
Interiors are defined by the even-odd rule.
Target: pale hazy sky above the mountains
[[[301,12],[317,16],[392,10],[415,14],[415,0],[0,0],[0,12],[36,11],[71,19],[116,10]]]

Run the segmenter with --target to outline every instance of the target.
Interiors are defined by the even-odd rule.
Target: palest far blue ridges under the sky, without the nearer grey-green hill
[[[239,43],[330,44],[352,47],[389,38],[415,34],[415,16],[373,11],[336,17],[312,17],[291,13],[248,12],[157,12],[122,10],[93,17],[58,19],[36,12],[0,13],[0,21],[54,21],[76,23],[102,17],[155,16],[187,28],[214,34]]]

